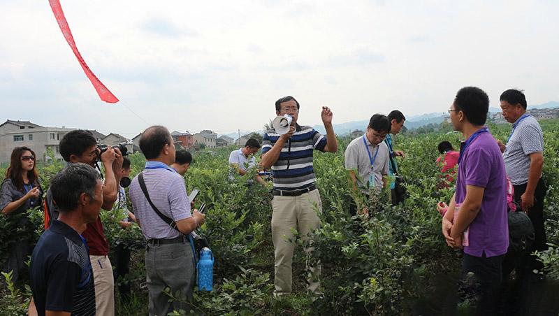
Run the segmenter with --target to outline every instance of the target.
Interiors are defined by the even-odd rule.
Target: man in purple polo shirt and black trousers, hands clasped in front
[[[456,192],[442,219],[447,244],[464,250],[463,273],[481,282],[479,315],[498,311],[501,264],[509,247],[504,161],[488,129],[487,94],[477,87],[458,90],[449,110],[452,125],[466,141],[460,147]],[[460,211],[455,217],[456,206]],[[469,227],[468,245],[463,246]]]

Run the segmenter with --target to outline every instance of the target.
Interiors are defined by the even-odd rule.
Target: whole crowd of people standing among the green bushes
[[[545,250],[543,202],[546,186],[542,180],[543,134],[535,117],[526,113],[523,92],[509,89],[500,96],[504,118],[513,124],[506,143],[495,140],[485,126],[489,99],[477,87],[464,87],[449,108],[453,128],[463,134],[460,151],[449,141],[439,144],[442,186],[453,186],[455,194],[437,208],[442,215],[442,234],[447,245],[463,250],[463,273],[474,273],[481,282],[480,314],[499,311],[528,313],[529,289],[533,271],[542,265],[530,255],[507,257],[509,227],[507,224],[507,177],[514,186],[514,201],[528,214],[535,229],[530,250]],[[274,246],[274,295],[292,292],[292,261],[298,231],[301,238],[320,226],[321,197],[313,168],[314,150],[337,152],[333,113],[321,110],[326,135],[298,122],[300,104],[293,96],[275,102],[277,116],[292,117],[289,131],[278,134],[269,129],[262,144],[250,139],[231,152],[231,180],[250,176],[247,185],[266,185],[250,168],[270,169],[273,175],[273,209],[271,229]],[[344,153],[348,185],[355,196],[381,194],[386,187],[393,205],[402,203],[405,194],[396,157],[405,152],[395,150],[395,135],[405,124],[400,110],[389,115],[370,117],[363,136],[355,138]],[[195,284],[197,254],[194,231],[205,222],[205,214],[189,201],[183,175],[192,156],[175,150],[168,129],[152,126],[140,138],[145,168],[130,180],[130,161],[118,148],[103,152],[95,138],[83,130],[71,131],[60,141],[60,152],[67,166],[50,182],[45,192],[45,232],[34,246],[20,239],[10,250],[3,271],[20,277],[24,261],[31,255],[31,314],[36,315],[114,315],[115,279],[129,272],[130,250],[117,247],[113,261],[108,257],[109,243],[99,217],[103,210],[119,210],[124,220],[122,229],[138,224],[147,242],[145,269],[149,292],[150,315],[166,315],[173,310],[189,310]],[[261,149],[261,160],[254,155]],[[30,148],[13,150],[6,179],[1,185],[0,210],[11,216],[42,205],[43,189],[38,182],[36,156]],[[103,165],[103,173],[97,163]],[[97,166],[97,169],[95,167]],[[129,187],[132,209],[126,203],[124,187]],[[355,199],[349,206],[351,215],[369,216],[367,199]],[[27,217],[14,222],[17,227],[30,227]],[[305,250],[308,251],[308,250]],[[308,290],[320,291],[320,266],[309,267]],[[511,289],[512,302],[502,303],[501,295],[509,291],[511,271],[516,270],[516,287]],[[541,274],[539,274],[541,275]],[[130,287],[120,282],[120,298],[130,299]],[[164,289],[180,292],[185,301],[170,301]],[[504,312],[504,308],[510,308]],[[58,315],[58,314],[57,314]]]

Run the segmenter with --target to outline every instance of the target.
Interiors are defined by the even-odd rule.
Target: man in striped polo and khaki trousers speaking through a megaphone
[[[336,152],[337,139],[332,126],[332,112],[322,107],[321,118],[326,137],[310,126],[297,124],[299,103],[293,96],[285,96],[275,102],[276,115],[291,115],[289,132],[280,135],[274,130],[266,131],[262,142],[263,168],[272,168],[272,239],[275,255],[275,295],[291,293],[291,263],[295,245],[292,229],[298,229],[302,238],[308,238],[312,229],[320,226],[318,212],[322,212],[320,195],[315,186],[312,168],[313,150]],[[317,206],[317,208],[315,208]],[[311,268],[309,289],[317,292],[319,268]]]

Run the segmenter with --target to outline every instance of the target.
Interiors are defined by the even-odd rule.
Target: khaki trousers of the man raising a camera
[[[89,256],[95,283],[96,315],[115,316],[115,279],[108,256]]]

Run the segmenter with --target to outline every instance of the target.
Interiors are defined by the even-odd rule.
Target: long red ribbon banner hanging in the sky
[[[93,71],[91,69],[89,69],[87,64],[85,64],[85,60],[83,60],[82,55],[80,55],[80,52],[78,51],[78,48],[75,47],[74,38],[72,36],[72,32],[70,31],[70,27],[68,26],[68,22],[66,22],[66,17],[64,17],[64,12],[62,12],[62,7],[60,6],[60,1],[59,0],[49,0],[49,3],[50,3],[50,8],[52,8],[52,13],[55,13],[55,17],[57,19],[60,30],[62,31],[62,34],[64,35],[64,38],[66,38],[66,41],[68,42],[68,45],[70,45],[70,48],[72,48],[72,51],[74,52],[75,57],[78,58],[78,62],[80,62],[80,66],[82,66],[82,69],[85,72],[85,76],[87,76],[87,78],[89,78],[89,81],[92,82],[93,87],[95,88],[97,94],[99,94],[99,97],[101,98],[101,100],[103,100],[105,102],[108,102],[108,103],[117,103],[118,102],[117,97],[114,94],[112,94],[109,91],[109,89],[107,89],[107,87],[105,87],[105,85],[103,85],[101,80],[99,80],[94,75]]]

